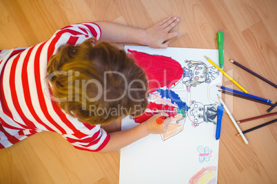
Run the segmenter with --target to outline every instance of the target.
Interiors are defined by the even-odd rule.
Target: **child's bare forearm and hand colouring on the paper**
[[[156,119],[161,116],[168,116],[166,113],[158,113],[148,119],[146,122],[119,132],[110,133],[110,141],[107,145],[100,150],[101,153],[114,152],[130,143],[138,141],[139,139],[146,137],[150,134],[162,134],[167,130],[167,126],[170,124],[172,119],[167,117],[162,124],[157,124]]]

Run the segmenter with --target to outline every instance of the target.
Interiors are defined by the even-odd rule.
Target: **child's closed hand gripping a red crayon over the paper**
[[[162,124],[157,124],[156,119],[158,119],[158,117],[161,117],[161,116],[165,116],[166,118],[165,120],[163,120]],[[170,122],[172,122],[172,119],[168,117],[167,113],[162,112],[162,113],[153,115],[152,117],[150,117],[150,119],[147,119],[145,124],[150,134],[162,134],[166,132],[167,126],[170,124]]]

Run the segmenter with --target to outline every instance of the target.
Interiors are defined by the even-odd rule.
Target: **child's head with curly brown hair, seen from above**
[[[125,51],[90,38],[63,45],[48,62],[53,100],[81,122],[105,124],[147,108],[147,77]]]

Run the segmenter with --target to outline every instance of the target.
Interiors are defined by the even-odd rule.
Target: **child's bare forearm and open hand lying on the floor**
[[[101,27],[100,40],[113,43],[138,43],[152,48],[167,48],[168,40],[178,35],[178,32],[170,33],[170,30],[179,21],[176,16],[170,17],[146,30],[105,21],[96,21],[95,23]]]

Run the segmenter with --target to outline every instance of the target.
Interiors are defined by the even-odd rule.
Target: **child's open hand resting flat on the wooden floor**
[[[164,19],[147,28],[147,45],[152,48],[167,48],[168,40],[178,35],[178,32],[169,33],[180,21],[176,16]]]

